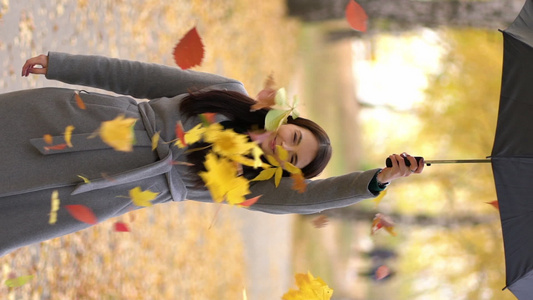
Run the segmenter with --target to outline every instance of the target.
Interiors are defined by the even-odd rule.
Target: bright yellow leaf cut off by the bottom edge
[[[333,295],[331,289],[320,277],[313,277],[311,272],[296,274],[298,290],[290,289],[281,299],[283,300],[329,300]]]

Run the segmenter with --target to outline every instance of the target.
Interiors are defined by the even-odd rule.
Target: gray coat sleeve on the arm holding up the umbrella
[[[251,197],[262,196],[250,209],[273,214],[312,214],[352,205],[379,194],[368,189],[378,170],[309,180],[304,193],[291,188],[291,178],[283,178],[277,188],[273,180],[254,182],[250,187]]]

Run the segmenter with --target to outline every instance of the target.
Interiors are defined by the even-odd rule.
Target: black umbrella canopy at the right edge
[[[500,206],[506,288],[533,299],[533,0],[503,32],[492,169]]]

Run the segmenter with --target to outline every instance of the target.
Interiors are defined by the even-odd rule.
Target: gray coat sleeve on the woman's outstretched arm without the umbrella
[[[48,53],[46,78],[108,90],[139,99],[174,97],[203,88],[242,83],[219,75],[94,55]]]

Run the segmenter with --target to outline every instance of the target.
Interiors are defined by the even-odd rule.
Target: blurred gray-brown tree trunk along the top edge
[[[352,0],[287,0],[290,16],[317,22],[344,18]],[[410,29],[417,26],[504,29],[518,15],[523,0],[357,0],[366,11],[369,28]],[[387,28],[389,27],[389,28]]]

